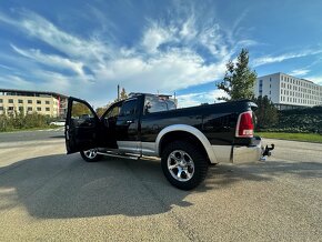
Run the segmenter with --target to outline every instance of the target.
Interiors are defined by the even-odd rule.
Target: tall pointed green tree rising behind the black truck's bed
[[[220,100],[234,101],[253,98],[253,87],[256,80],[256,72],[249,68],[249,51],[242,49],[237,63],[229,61],[227,72],[222,82],[217,87],[223,90],[229,97]]]

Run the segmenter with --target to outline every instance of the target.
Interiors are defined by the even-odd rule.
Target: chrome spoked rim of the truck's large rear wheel
[[[189,181],[194,173],[194,163],[191,157],[182,150],[174,150],[168,157],[168,170],[178,181]]]

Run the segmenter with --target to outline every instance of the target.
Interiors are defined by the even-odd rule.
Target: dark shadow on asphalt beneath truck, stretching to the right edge
[[[192,193],[212,190],[215,199],[217,190],[240,181],[269,181],[285,173],[301,179],[321,178],[321,171],[322,163],[318,162],[220,164],[210,168],[205,182],[198,189],[181,191],[168,183],[160,161],[108,158],[87,163],[79,154],[56,154],[0,169],[0,211],[22,203],[30,215],[46,219],[143,216],[193,205],[184,201]]]

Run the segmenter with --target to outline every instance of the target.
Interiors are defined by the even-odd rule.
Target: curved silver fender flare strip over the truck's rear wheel
[[[209,157],[210,162],[218,163],[218,160],[215,158],[211,143],[209,142],[207,137],[200,130],[195,129],[194,127],[187,125],[187,124],[173,124],[173,125],[165,127],[163,130],[160,131],[155,140],[155,151],[157,151],[158,157],[160,157],[160,141],[167,133],[172,132],[172,131],[185,131],[194,135],[202,143]]]

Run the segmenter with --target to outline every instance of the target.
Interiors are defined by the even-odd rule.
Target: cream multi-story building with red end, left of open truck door
[[[0,114],[37,112],[66,117],[68,97],[56,92],[0,89]]]

